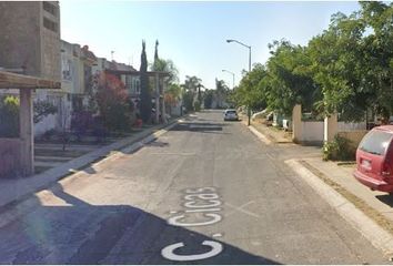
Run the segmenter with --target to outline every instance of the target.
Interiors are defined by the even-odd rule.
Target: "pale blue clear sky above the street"
[[[355,1],[88,1],[61,0],[61,39],[89,45],[99,58],[140,68],[142,40],[148,61],[170,59],[179,70],[180,82],[196,75],[205,88],[215,79],[232,88],[251,62],[264,63],[270,57],[268,44],[285,39],[306,45],[312,37],[328,29],[335,12],[350,14],[360,9]]]

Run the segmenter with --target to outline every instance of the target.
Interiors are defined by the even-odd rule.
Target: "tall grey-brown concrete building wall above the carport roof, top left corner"
[[[42,2],[0,2],[0,66],[26,68],[30,75],[60,80],[60,10],[43,10]],[[43,20],[57,24],[48,30]]]

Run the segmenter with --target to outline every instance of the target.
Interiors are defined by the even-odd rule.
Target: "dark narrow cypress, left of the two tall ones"
[[[142,41],[140,79],[141,79],[141,101],[140,101],[141,119],[143,120],[144,123],[148,123],[150,122],[151,119],[152,104],[151,104],[151,95],[149,90],[148,59],[147,59],[144,40]]]

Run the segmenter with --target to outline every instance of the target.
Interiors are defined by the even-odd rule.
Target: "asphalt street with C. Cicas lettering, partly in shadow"
[[[386,264],[282,162],[315,152],[196,113],[14,206],[0,263]]]

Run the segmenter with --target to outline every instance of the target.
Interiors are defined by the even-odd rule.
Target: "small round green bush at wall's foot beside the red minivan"
[[[356,156],[356,150],[351,145],[351,141],[339,135],[335,135],[332,142],[325,142],[322,152],[324,161],[354,161]]]

